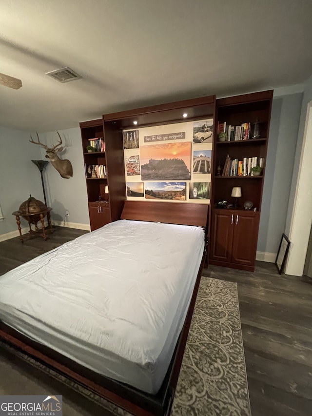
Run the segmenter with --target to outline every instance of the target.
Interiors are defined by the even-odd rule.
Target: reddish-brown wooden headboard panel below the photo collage
[[[126,200],[120,218],[206,227],[208,204]]]

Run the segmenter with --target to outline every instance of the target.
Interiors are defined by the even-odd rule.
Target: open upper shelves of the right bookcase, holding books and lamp
[[[271,91],[216,100],[216,123],[219,132],[216,131],[214,135],[213,204],[221,200],[233,203],[234,200],[231,198],[232,188],[240,186],[242,188],[241,205],[243,206],[243,202],[246,200],[252,201],[254,208],[260,211],[271,103]],[[248,139],[220,141],[219,133],[222,130],[226,133],[226,126],[242,126],[245,124],[249,126]],[[240,171],[238,171],[239,161],[242,162]],[[253,176],[251,167],[260,163],[262,165],[261,175]]]

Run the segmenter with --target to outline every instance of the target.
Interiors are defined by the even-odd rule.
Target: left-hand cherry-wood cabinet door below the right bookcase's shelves
[[[231,261],[234,230],[234,214],[231,211],[215,211],[211,233],[211,259]]]

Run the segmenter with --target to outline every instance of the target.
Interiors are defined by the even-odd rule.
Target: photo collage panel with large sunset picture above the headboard
[[[213,118],[123,130],[127,199],[210,202]]]

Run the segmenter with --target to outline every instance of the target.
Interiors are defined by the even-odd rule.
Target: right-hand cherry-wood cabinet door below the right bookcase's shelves
[[[258,212],[239,211],[234,214],[233,263],[254,266],[258,223]]]

